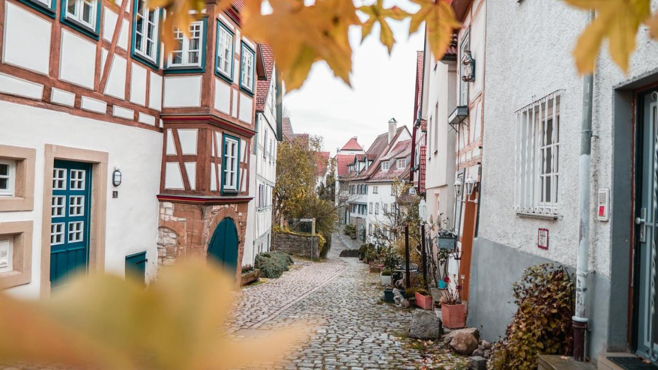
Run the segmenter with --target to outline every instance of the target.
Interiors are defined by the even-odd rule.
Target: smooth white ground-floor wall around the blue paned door
[[[155,277],[158,227],[158,201],[155,196],[159,192],[161,158],[153,154],[162,151],[161,134],[5,101],[0,101],[0,111],[0,129],[4,132],[0,142],[33,147],[37,151],[34,210],[0,213],[0,222],[34,223],[32,282],[11,288],[8,292],[26,298],[39,296],[45,144],[109,153],[105,194],[105,269],[123,276],[126,255],[146,250],[149,259],[146,266],[147,279]],[[114,166],[119,167],[123,174],[123,182],[118,188],[111,184]],[[118,190],[118,198],[112,198],[113,190]]]

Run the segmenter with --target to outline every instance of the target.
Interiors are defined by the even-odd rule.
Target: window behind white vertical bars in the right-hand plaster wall
[[[515,211],[555,215],[559,185],[559,123],[563,90],[517,111]]]

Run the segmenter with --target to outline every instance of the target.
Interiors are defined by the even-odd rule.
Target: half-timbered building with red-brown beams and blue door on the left
[[[207,1],[164,55],[144,0],[0,1],[0,288],[196,255],[239,274],[265,70],[240,7]]]

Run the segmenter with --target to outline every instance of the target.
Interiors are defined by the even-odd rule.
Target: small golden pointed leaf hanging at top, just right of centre
[[[461,27],[455,19],[450,2],[447,0],[411,0],[420,5],[420,10],[411,15],[409,34],[418,31],[425,22],[427,42],[437,61],[443,58],[452,41],[453,30]]]

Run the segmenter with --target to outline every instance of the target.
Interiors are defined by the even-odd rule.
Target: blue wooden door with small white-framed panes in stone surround
[[[89,265],[91,165],[56,160],[50,228],[51,288]]]

